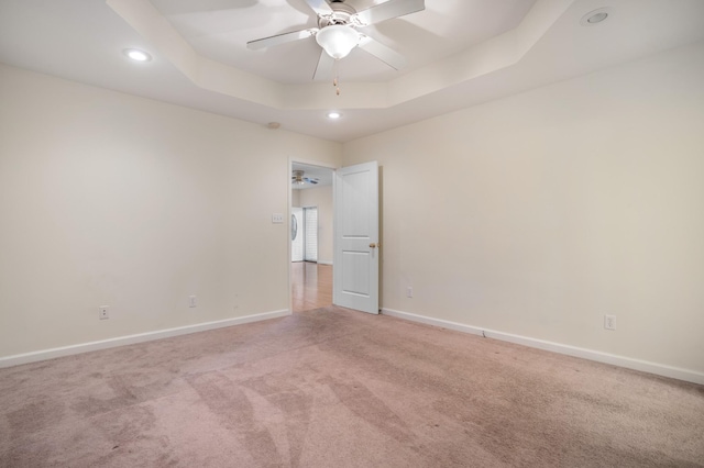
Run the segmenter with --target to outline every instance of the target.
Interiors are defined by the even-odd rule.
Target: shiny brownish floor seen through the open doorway
[[[332,305],[332,265],[290,264],[293,312]]]

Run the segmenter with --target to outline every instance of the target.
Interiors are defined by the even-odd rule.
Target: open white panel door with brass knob
[[[332,302],[378,313],[378,166],[343,167],[334,179]]]

